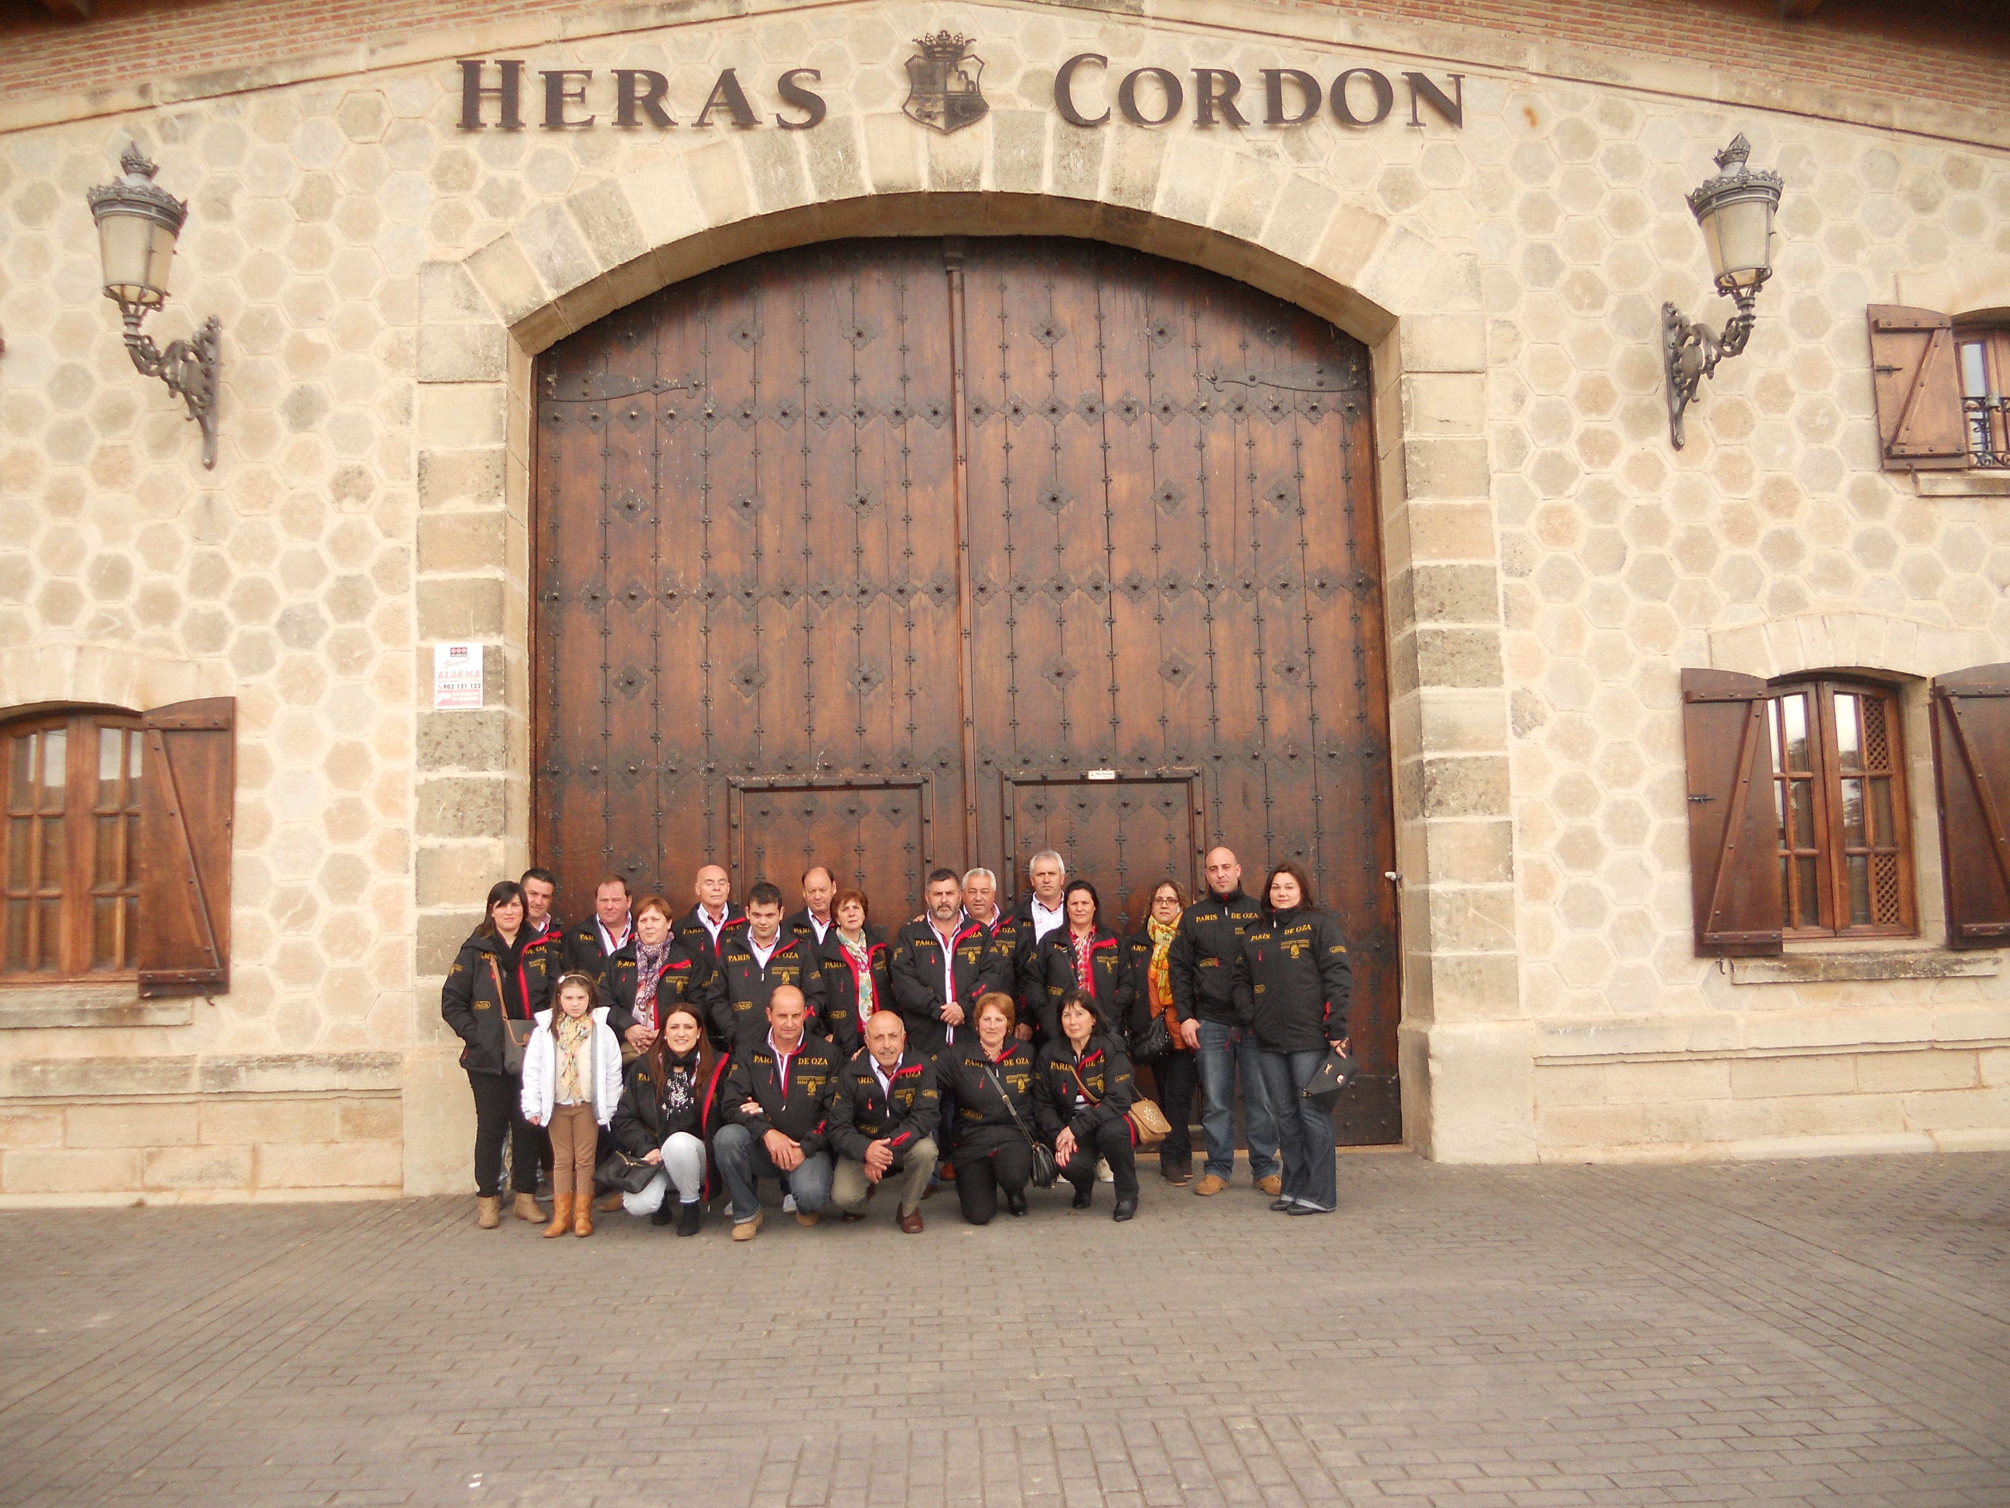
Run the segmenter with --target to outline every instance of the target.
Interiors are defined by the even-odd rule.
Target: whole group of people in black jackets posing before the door
[[[971,1224],[1001,1204],[1025,1214],[1027,1188],[1051,1180],[1075,1208],[1112,1182],[1130,1220],[1140,1098],[1170,1126],[1160,1174],[1212,1196],[1234,1176],[1238,1084],[1254,1186],[1272,1210],[1327,1214],[1331,1100],[1309,1090],[1347,1052],[1341,927],[1294,863],[1258,897],[1228,849],[1204,873],[1192,903],[1160,881],[1130,937],[1051,851],[1009,909],[989,869],[935,871],[923,915],[890,937],[824,867],[790,915],[768,881],[738,905],[720,865],[681,915],[609,877],[573,927],[549,871],[500,881],[440,991],[474,1096],[476,1222],[500,1224],[505,1142],[519,1218],[545,1224],[551,1166],[547,1237],[591,1235],[595,1208],[689,1237],[724,1194],[734,1241],[752,1241],[762,1178],[800,1224],[862,1220],[886,1186],[900,1231],[921,1233],[941,1180]]]

